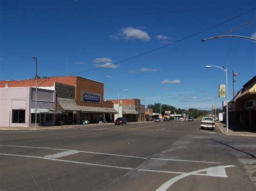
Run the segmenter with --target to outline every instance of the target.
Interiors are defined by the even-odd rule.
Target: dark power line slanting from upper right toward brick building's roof
[[[160,46],[160,47],[158,47],[158,48],[152,49],[151,51],[147,51],[147,52],[144,52],[144,53],[135,55],[135,56],[131,56],[130,58],[127,58],[127,59],[124,59],[124,60],[121,60],[121,61],[118,61],[118,62],[114,62],[114,63],[112,63],[112,64],[110,64],[110,65],[107,65],[107,66],[102,66],[102,67],[98,67],[98,68],[93,68],[93,69],[89,69],[89,70],[84,70],[84,71],[82,71],[82,72],[77,72],[77,73],[72,73],[72,74],[66,74],[66,75],[63,75],[63,76],[76,75],[76,74],[82,74],[82,73],[85,73],[85,72],[91,72],[91,71],[93,71],[93,70],[97,70],[97,69],[101,69],[101,68],[106,68],[106,67],[109,67],[109,66],[111,66],[111,65],[116,65],[116,64],[121,63],[121,62],[125,62],[125,61],[128,61],[128,60],[132,60],[132,59],[134,59],[134,58],[138,58],[139,56],[142,56],[142,55],[145,55],[145,54],[149,54],[149,53],[151,53],[151,52],[154,52],[154,51],[157,51],[157,50],[159,50],[159,49],[165,48],[165,47],[167,47],[167,46],[170,46],[170,45],[179,43],[180,41],[183,41],[183,40],[185,40],[185,39],[188,39],[188,38],[197,36],[197,34],[203,33],[203,32],[205,32],[205,31],[211,30],[211,29],[213,29],[213,28],[215,28],[215,27],[217,27],[217,26],[219,26],[219,25],[223,25],[223,24],[225,24],[225,23],[227,23],[227,22],[230,22],[231,20],[233,20],[233,19],[235,19],[235,18],[238,18],[238,17],[240,17],[240,16],[242,16],[242,15],[246,15],[247,13],[252,12],[252,11],[254,11],[255,9],[256,9],[256,8],[251,9],[251,10],[249,10],[249,11],[247,11],[247,12],[241,13],[240,15],[235,16],[235,17],[233,17],[233,18],[231,18],[231,19],[225,20],[224,22],[221,22],[221,23],[219,23],[219,24],[217,24],[217,25],[208,27],[208,28],[205,29],[205,30],[196,32],[196,33],[194,33],[194,34],[191,34],[190,36],[187,36],[187,37],[184,37],[184,38],[182,38],[182,39],[176,40],[176,41],[174,41],[174,42],[172,42],[172,43],[169,43],[169,44],[167,44],[167,45]]]

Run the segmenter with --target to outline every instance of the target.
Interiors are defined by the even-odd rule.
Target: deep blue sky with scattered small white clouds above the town
[[[0,80],[77,75],[104,82],[104,97],[140,98],[142,104],[177,108],[221,106],[225,74],[205,65],[230,66],[228,94],[256,75],[256,43],[223,34],[256,17],[249,12],[157,51],[111,65],[183,39],[256,7],[244,1],[27,1],[0,0]],[[256,22],[254,19],[250,24]],[[245,26],[245,25],[240,25]],[[226,34],[256,36],[256,25]],[[110,65],[110,66],[108,66]],[[103,67],[104,68],[100,68]],[[97,69],[96,69],[97,68]],[[100,68],[100,69],[99,69]],[[91,70],[91,71],[89,71]]]

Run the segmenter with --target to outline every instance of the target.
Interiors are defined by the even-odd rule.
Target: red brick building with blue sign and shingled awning
[[[56,109],[62,112],[56,121],[66,124],[89,121],[98,123],[105,118],[113,122],[113,103],[104,100],[104,83],[80,76],[55,76],[38,79],[38,87],[56,91]],[[3,87],[35,87],[35,79],[0,81]]]

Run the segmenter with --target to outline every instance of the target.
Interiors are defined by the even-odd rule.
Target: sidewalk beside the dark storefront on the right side
[[[230,124],[228,126],[228,132],[227,126],[224,123],[216,122],[215,127],[223,134],[225,135],[231,135],[231,136],[246,136],[246,137],[256,137],[256,132],[248,131],[245,129],[239,129],[238,126]]]

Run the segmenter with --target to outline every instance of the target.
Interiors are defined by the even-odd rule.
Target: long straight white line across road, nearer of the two
[[[94,164],[89,162],[79,162],[79,161],[72,161],[72,160],[62,160],[62,159],[53,159],[53,158],[46,158],[46,157],[36,157],[36,156],[30,156],[30,155],[21,155],[21,154],[7,154],[7,153],[0,153],[0,155],[7,155],[7,156],[13,156],[13,157],[26,157],[26,158],[37,158],[37,159],[45,159],[45,160],[53,160],[53,161],[60,161],[60,162],[69,162],[74,164],[83,164],[83,165],[91,165],[91,166],[100,166],[100,167],[109,167],[109,168],[119,168],[119,169],[126,169],[126,170],[137,170],[137,171],[145,171],[145,172],[160,172],[160,173],[171,173],[171,174],[181,174],[186,175],[188,173],[185,172],[174,172],[174,171],[157,171],[157,170],[151,170],[151,169],[137,169],[137,168],[129,168],[129,167],[121,167],[121,166],[112,166],[112,165],[100,165],[100,164]],[[230,165],[232,166],[232,165]],[[227,166],[226,166],[227,167]],[[212,167],[214,168],[214,167]],[[208,168],[205,169],[205,171]],[[196,172],[196,171],[194,171]],[[203,172],[203,171],[200,171]],[[199,174],[193,173],[191,175],[203,175],[203,176],[218,176],[215,174]],[[178,176],[177,176],[178,177]],[[185,177],[185,176],[184,176]]]

